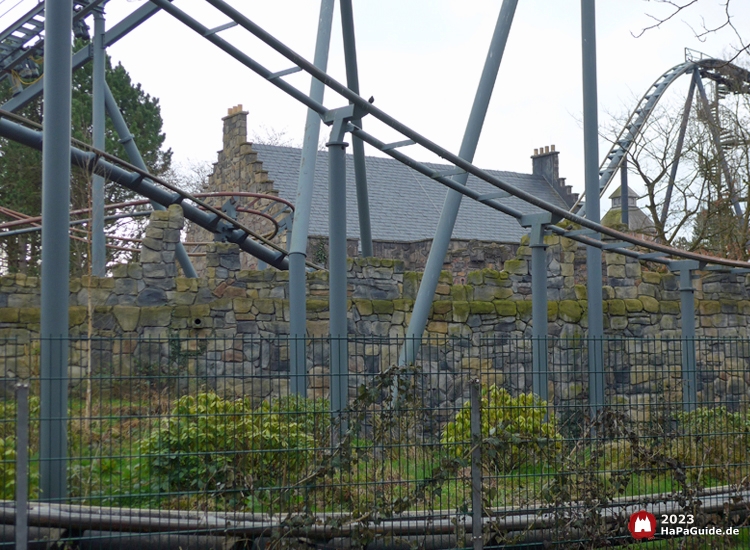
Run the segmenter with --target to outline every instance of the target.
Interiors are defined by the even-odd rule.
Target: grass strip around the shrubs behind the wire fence
[[[468,461],[463,464],[454,462],[453,469],[446,472],[449,453],[438,444],[421,446],[419,437],[410,431],[414,419],[399,419],[403,420],[403,429],[383,431],[382,440],[377,444],[367,437],[355,439],[351,456],[336,458],[339,462],[332,468],[299,486],[295,485],[295,480],[289,480],[290,486],[286,489],[242,488],[240,485],[233,489],[219,483],[204,483],[200,490],[170,487],[152,471],[148,457],[142,454],[140,441],[163,428],[163,418],[170,413],[176,397],[176,392],[169,388],[159,389],[146,384],[120,388],[119,391],[110,388],[95,394],[90,409],[85,396],[72,397],[69,402],[71,500],[107,506],[245,509],[253,512],[288,508],[351,512],[355,515],[375,507],[385,513],[455,510],[466,507],[471,501]],[[12,418],[8,417],[6,409],[8,407],[3,409],[6,418],[0,418],[0,428],[7,436]],[[38,440],[35,430],[34,425],[32,441]],[[502,474],[487,470],[484,476],[486,504],[493,508],[544,504],[550,501],[550,491],[560,490],[561,480],[570,500],[586,497],[592,479],[596,489],[609,498],[674,493],[682,488],[672,469],[634,467],[629,458],[630,449],[621,442],[605,444],[603,451],[584,447],[577,454],[571,451],[576,442],[565,441],[562,454],[573,454],[568,454],[558,463],[529,463]],[[330,460],[326,457],[326,442],[318,439],[318,444],[320,448],[300,476],[302,479]],[[32,450],[34,484],[34,476],[38,476],[38,455],[33,446]],[[0,474],[5,472],[5,477],[0,475],[0,489],[8,480],[11,462],[6,458],[0,463]],[[747,470],[746,465],[741,466]],[[704,472],[700,478],[701,486],[727,483],[727,477],[717,475],[725,470],[706,470],[708,473]],[[252,477],[252,472],[247,474]],[[250,478],[249,483],[252,483]],[[731,480],[737,478],[732,475]],[[10,498],[12,494],[6,491],[4,496]]]

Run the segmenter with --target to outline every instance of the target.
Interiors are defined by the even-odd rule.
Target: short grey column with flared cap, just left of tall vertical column
[[[548,213],[531,214],[521,218],[521,225],[531,227],[531,329],[532,329],[532,389],[547,401],[547,245],[545,227],[551,223]]]

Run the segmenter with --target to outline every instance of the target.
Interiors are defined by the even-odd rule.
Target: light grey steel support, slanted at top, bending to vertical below
[[[315,42],[313,62],[321,71],[328,67],[328,50],[331,44],[334,0],[321,0],[318,17],[318,36]],[[312,78],[310,97],[323,103],[325,86]],[[289,349],[290,390],[295,395],[307,393],[307,356],[305,337],[307,336],[307,285],[305,258],[307,257],[307,236],[310,230],[310,208],[312,205],[315,164],[318,158],[318,138],[320,136],[320,116],[312,109],[307,110],[305,137],[302,143],[302,158],[297,182],[297,197],[294,202],[294,220],[289,245]]]

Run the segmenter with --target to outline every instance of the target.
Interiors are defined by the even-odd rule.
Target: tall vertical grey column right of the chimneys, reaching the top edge
[[[581,0],[583,57],[583,147],[586,180],[586,219],[599,223],[599,122],[596,84],[596,12],[594,0]],[[604,406],[604,335],[602,251],[586,248],[588,299],[589,407],[592,417]]]

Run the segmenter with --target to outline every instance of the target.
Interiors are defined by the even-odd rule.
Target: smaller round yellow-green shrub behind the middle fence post
[[[508,473],[522,465],[551,460],[561,448],[547,403],[534,394],[511,395],[495,385],[482,390],[482,461],[495,473]],[[443,430],[441,439],[448,452],[466,457],[471,450],[471,404],[464,403],[453,422]]]

